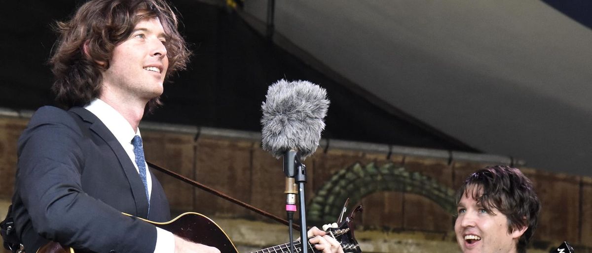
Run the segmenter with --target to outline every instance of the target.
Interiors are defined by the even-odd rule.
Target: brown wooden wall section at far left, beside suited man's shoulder
[[[0,198],[10,199],[14,193],[17,142],[27,123],[28,119],[0,118]]]

